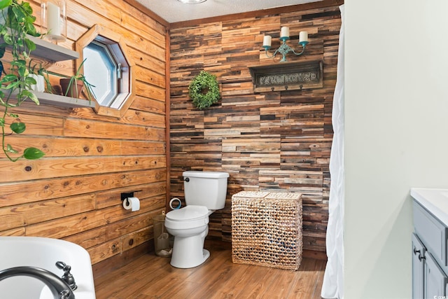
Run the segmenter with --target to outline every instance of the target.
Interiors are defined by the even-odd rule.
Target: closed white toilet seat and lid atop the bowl
[[[189,205],[169,211],[165,216],[165,226],[173,229],[197,228],[209,223],[209,209],[204,206]]]

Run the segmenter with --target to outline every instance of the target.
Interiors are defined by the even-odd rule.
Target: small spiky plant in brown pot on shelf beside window
[[[83,90],[85,90],[85,95],[87,95],[87,99],[90,102],[92,101],[92,97],[94,97],[92,88],[94,88],[95,86],[87,81],[84,74],[81,74],[84,62],[85,60],[81,62],[78,69],[76,70],[76,73],[73,76],[62,78],[59,80],[59,83],[62,87],[62,93],[66,97],[75,97],[78,99]]]

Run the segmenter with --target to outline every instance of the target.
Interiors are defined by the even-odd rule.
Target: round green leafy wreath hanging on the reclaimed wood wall
[[[207,71],[201,71],[188,86],[188,95],[193,100],[193,105],[200,110],[218,103],[221,93],[216,76]]]

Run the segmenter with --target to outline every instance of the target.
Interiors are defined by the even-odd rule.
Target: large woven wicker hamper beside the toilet
[[[300,193],[232,196],[233,263],[297,270],[302,261]]]

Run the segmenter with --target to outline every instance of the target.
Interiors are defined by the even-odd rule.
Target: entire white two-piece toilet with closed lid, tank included
[[[165,228],[174,236],[171,265],[191,268],[204,263],[210,252],[204,249],[209,233],[209,215],[225,206],[227,172],[183,172],[186,207],[169,211]]]

